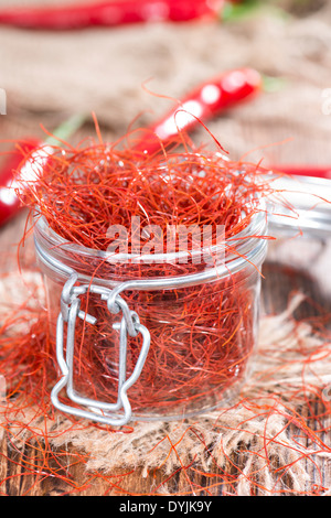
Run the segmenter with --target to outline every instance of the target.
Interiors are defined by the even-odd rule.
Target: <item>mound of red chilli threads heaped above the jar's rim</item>
[[[256,165],[226,162],[217,154],[160,158],[94,144],[65,154],[55,151],[24,202],[38,204],[60,236],[96,250],[107,249],[109,225],[128,227],[132,216],[141,218],[141,226],[162,230],[168,225],[224,225],[231,238],[258,211],[257,194],[271,191],[263,176]]]

